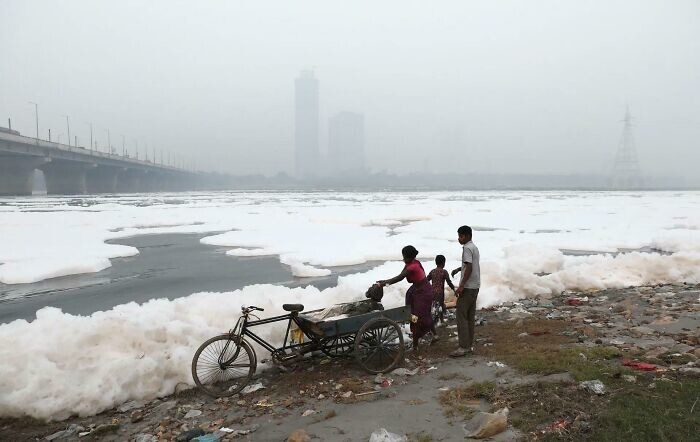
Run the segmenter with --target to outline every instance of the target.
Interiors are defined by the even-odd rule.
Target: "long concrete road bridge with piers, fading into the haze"
[[[49,194],[185,191],[204,174],[153,161],[0,131],[0,195],[31,195],[41,170]]]

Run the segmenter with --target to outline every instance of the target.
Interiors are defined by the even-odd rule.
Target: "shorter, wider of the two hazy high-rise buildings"
[[[328,123],[328,159],[332,173],[357,176],[365,172],[365,117],[339,112]]]

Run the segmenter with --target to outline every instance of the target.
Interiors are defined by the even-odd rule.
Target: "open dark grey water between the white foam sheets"
[[[208,234],[142,235],[114,241],[133,246],[139,254],[112,260],[98,273],[66,276],[33,284],[0,284],[0,323],[32,320],[42,307],[89,315],[96,311],[153,298],[175,299],[196,292],[222,292],[251,284],[287,287],[313,285],[324,289],[338,276],[365,271],[376,265],[333,268],[330,276],[296,278],[277,256],[232,257],[226,248],[199,242]]]

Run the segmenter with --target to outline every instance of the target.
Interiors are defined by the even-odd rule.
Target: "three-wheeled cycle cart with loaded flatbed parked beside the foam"
[[[408,306],[383,310],[381,304],[374,305],[382,309],[326,319],[314,317],[321,310],[303,312],[301,304],[284,304],[282,308],[287,314],[264,319],[253,314],[264,309],[242,307],[233,329],[214,336],[197,349],[192,359],[192,377],[199,388],[212,396],[240,392],[253,378],[258,362],[248,340],[269,351],[276,364],[301,361],[304,356],[320,351],[333,358],[353,356],[368,372],[386,373],[403,361],[404,336],[399,323],[408,322],[411,312]],[[287,331],[281,347],[275,347],[252,330],[284,321]],[[291,335],[296,335],[297,342],[293,342]]]

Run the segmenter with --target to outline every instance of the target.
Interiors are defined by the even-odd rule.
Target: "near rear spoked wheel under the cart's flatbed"
[[[355,359],[370,373],[386,373],[403,360],[403,333],[387,318],[366,322],[355,337]]]

